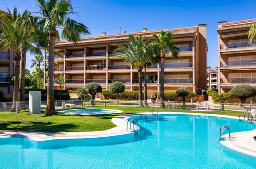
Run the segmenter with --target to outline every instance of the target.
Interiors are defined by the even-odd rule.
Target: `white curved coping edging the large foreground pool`
[[[70,110],[70,109],[69,109]],[[43,132],[0,132],[0,138],[9,138],[9,137],[23,137],[31,139],[34,141],[46,141],[46,140],[55,140],[55,139],[76,139],[76,138],[99,138],[99,137],[110,137],[118,135],[126,135],[133,133],[128,129],[126,131],[127,120],[130,117],[140,116],[140,115],[150,115],[150,112],[144,113],[134,113],[134,114],[124,114],[120,116],[113,117],[111,121],[116,125],[114,128],[105,130],[105,131],[96,131],[96,132],[60,132],[60,133],[43,133]],[[238,119],[239,117],[228,116],[228,115],[218,115],[218,114],[207,114],[207,113],[183,113],[183,112],[159,112],[159,114],[183,114],[183,115],[199,115],[199,116],[213,116],[213,117],[225,117]],[[139,126],[138,126],[138,129]],[[241,141],[244,138],[244,135],[254,135],[256,130],[231,133],[232,138],[236,136],[237,140],[227,139],[228,135],[223,135],[222,137],[226,138],[226,141],[220,141],[220,143],[229,149],[244,153],[250,156],[256,157],[256,141],[249,139],[250,145],[245,147],[245,141]],[[245,139],[247,140],[247,139]],[[253,142],[254,141],[254,142]],[[255,143],[255,144],[254,144]],[[246,143],[248,144],[248,142]],[[253,146],[254,145],[254,146]]]

